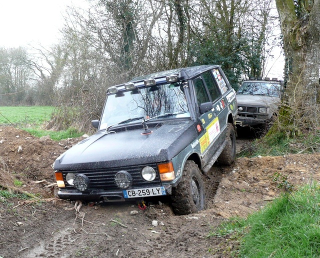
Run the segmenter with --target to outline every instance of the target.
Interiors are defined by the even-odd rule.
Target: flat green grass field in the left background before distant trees
[[[50,120],[52,106],[0,106],[0,124],[38,125]]]

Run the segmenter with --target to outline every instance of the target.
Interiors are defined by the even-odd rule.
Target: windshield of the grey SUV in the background
[[[280,84],[268,82],[243,82],[237,94],[267,95],[280,97]]]

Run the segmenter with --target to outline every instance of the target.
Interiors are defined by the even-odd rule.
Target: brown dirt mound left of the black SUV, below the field
[[[17,184],[14,180],[18,180],[26,192],[53,197],[52,192],[41,189],[43,183],[55,182],[52,164],[61,153],[81,139],[58,142],[49,136],[37,138],[10,126],[0,127],[0,185],[13,187]],[[35,183],[41,180],[43,183]]]

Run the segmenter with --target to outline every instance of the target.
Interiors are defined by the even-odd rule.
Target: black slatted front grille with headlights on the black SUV
[[[144,166],[151,166],[156,171],[156,177],[152,182],[145,181],[141,177],[141,170]],[[144,164],[144,165],[136,165],[136,166],[129,166],[129,167],[114,167],[114,168],[108,168],[108,169],[102,168],[102,169],[90,169],[90,170],[62,171],[62,174],[63,174],[66,188],[74,188],[73,186],[68,185],[65,181],[65,175],[68,172],[72,172],[75,175],[85,174],[90,180],[90,185],[89,185],[90,189],[115,190],[119,188],[114,183],[114,175],[120,170],[125,170],[132,176],[132,180],[133,180],[132,187],[160,183],[156,164]]]

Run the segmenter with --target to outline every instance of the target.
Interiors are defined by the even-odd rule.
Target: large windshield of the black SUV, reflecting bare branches
[[[170,113],[167,116],[164,114]],[[162,84],[107,95],[99,129],[124,121],[190,117],[186,100],[179,84]],[[158,117],[155,117],[158,116]],[[133,118],[133,119],[129,119]],[[136,119],[134,119],[136,118]]]

